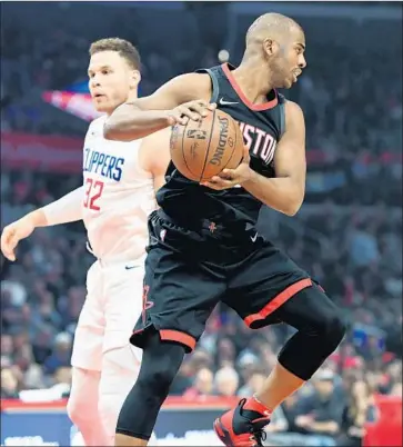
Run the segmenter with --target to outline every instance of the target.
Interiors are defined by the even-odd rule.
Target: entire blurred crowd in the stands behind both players
[[[58,8],[72,13],[72,7],[49,8],[56,18]],[[1,130],[82,137],[87,125],[59,115],[40,95],[81,80],[89,42],[105,34],[139,44],[144,95],[178,73],[219,63],[220,33],[201,44],[200,19],[192,10],[184,13],[187,42],[195,42],[200,51],[190,51],[189,44],[169,53],[159,50],[157,34],[141,39],[141,14],[129,20],[123,8],[113,10],[102,36],[91,32],[90,24],[80,23],[79,30],[53,27],[49,34],[8,21],[2,27]],[[183,36],[172,39],[183,41]],[[235,63],[241,44],[232,54]],[[377,417],[374,395],[402,394],[402,79],[394,51],[393,44],[380,52],[370,43],[347,47],[334,39],[323,47],[309,41],[309,69],[286,92],[306,117],[313,160],[306,203],[292,219],[264,209],[260,226],[319,280],[351,325],[310,386],[275,411],[268,445],[359,445],[363,421]],[[80,181],[79,175],[2,169],[1,229]],[[93,262],[84,242],[81,224],[41,229],[21,244],[18,262],[1,258],[2,398],[54,386],[68,395],[74,328]],[[253,331],[230,309],[218,307],[172,394],[250,396],[292,334],[282,325]]]

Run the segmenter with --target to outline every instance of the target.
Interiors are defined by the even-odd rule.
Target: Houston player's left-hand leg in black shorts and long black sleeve
[[[117,446],[147,445],[184,354],[191,351],[225,289],[224,278],[170,248],[175,229],[154,225],[145,260],[142,317],[131,341],[143,348],[139,377],[119,415]],[[163,244],[161,241],[163,238]],[[187,241],[185,241],[187,242]]]

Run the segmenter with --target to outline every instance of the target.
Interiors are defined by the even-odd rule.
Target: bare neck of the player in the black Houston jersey
[[[253,60],[242,60],[241,64],[232,71],[236,83],[252,102],[259,102],[265,98],[268,93],[273,89],[273,85],[268,74],[265,67],[262,68],[262,62]]]

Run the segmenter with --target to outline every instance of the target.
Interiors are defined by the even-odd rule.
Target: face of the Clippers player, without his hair
[[[105,113],[111,113],[137,92],[140,82],[140,72],[117,51],[93,54],[88,76],[93,105],[97,111]]]

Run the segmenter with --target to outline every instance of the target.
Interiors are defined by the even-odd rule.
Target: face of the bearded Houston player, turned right
[[[289,89],[306,67],[304,33],[299,28],[292,29],[286,39],[275,42],[274,48],[269,58],[271,81],[274,88]]]

